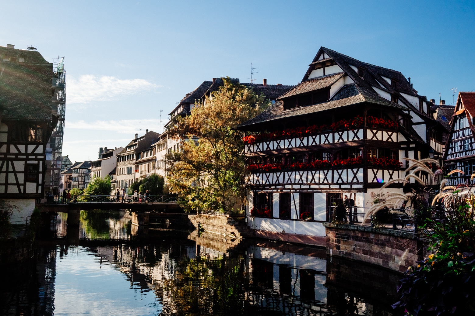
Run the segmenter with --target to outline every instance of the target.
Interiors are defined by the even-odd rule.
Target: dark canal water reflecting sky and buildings
[[[2,267],[1,315],[401,315],[395,272],[321,249],[132,235],[127,212],[84,211],[73,236],[67,228],[58,216],[30,261]]]

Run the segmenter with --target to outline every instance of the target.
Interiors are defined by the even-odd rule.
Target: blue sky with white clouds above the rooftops
[[[66,57],[63,153],[159,131],[202,81],[296,84],[320,46],[402,72],[428,99],[475,89],[474,1],[0,1],[0,45]],[[160,112],[163,110],[163,112]],[[140,122],[140,123],[139,123]],[[140,131],[142,129],[142,131]]]

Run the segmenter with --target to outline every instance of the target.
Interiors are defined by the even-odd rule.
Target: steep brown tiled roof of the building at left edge
[[[24,58],[24,62],[19,62]],[[3,61],[9,59],[10,61]],[[3,117],[51,121],[53,64],[41,54],[0,46],[0,106]]]

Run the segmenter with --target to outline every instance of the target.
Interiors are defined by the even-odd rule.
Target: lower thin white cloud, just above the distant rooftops
[[[165,120],[161,120],[161,124],[166,123]],[[142,135],[145,134],[145,129],[159,132],[160,119],[128,119],[118,121],[76,121],[66,122],[66,128],[74,129],[86,129],[86,130],[102,130],[112,131],[121,134],[133,134],[138,133],[139,129],[142,129]]]

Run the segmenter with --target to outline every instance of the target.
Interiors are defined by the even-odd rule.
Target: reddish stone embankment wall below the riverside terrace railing
[[[327,253],[404,272],[423,256],[414,233],[360,225],[324,223]]]

